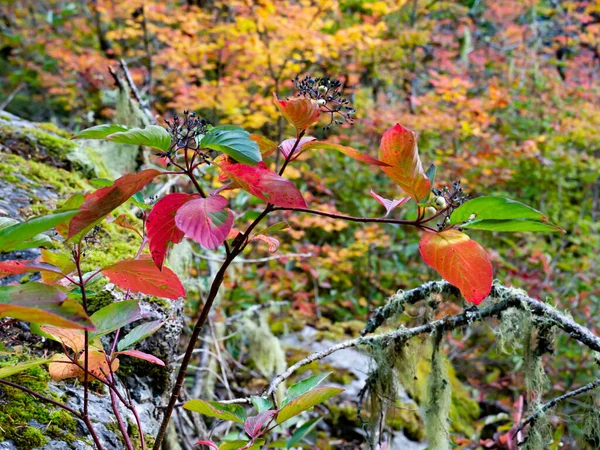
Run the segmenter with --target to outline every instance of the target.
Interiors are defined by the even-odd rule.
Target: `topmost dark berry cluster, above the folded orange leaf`
[[[354,107],[350,100],[342,94],[342,83],[329,77],[305,76],[292,80],[298,90],[298,96],[304,96],[316,100],[322,114],[329,114],[329,123],[324,129],[329,130],[332,126],[348,123],[352,125],[355,121]]]

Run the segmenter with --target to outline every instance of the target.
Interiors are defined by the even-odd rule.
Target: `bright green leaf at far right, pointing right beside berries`
[[[450,224],[491,231],[562,231],[540,211],[500,197],[478,197],[463,203],[452,213]]]

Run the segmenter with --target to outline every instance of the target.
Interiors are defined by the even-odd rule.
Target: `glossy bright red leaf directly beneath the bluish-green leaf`
[[[268,203],[284,208],[306,208],[296,185],[277,175],[263,162],[247,166],[223,160],[219,166],[239,187]]]

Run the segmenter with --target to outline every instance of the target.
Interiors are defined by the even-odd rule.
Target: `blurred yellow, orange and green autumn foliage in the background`
[[[460,180],[473,196],[505,195],[546,212],[566,234],[475,235],[493,249],[496,278],[598,331],[597,0],[2,3],[0,104],[9,99],[7,111],[71,130],[113,120],[108,68],[120,59],[157,115],[193,110],[277,142],[293,130],[273,93],[293,95],[299,74],[341,79],[357,123],[316,138],[333,133],[330,142],[376,156],[379,136],[401,123],[418,131],[421,158],[436,164],[438,183]],[[380,171],[337,152],[305,152],[286,175],[322,211],[383,215],[369,190],[402,196]],[[254,200],[241,194],[235,201],[247,209],[236,221],[251,221]],[[397,289],[434,277],[418,257],[415,231],[317,216],[286,220],[291,230],[280,233],[280,252],[312,256],[244,265],[227,281],[224,308],[284,299],[304,319],[364,319]],[[267,254],[264,244],[255,247]],[[493,346],[475,346],[487,336],[478,333],[451,338],[450,359],[482,404],[497,408],[490,395],[502,392],[497,402],[510,410],[520,375]],[[592,379],[590,355],[566,339],[557,352],[570,358],[548,361],[553,392]],[[566,414],[577,407],[567,404]],[[565,426],[573,442],[583,442],[576,420]]]

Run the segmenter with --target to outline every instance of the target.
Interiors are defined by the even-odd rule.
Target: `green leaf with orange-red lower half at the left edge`
[[[27,283],[0,287],[0,317],[94,331],[83,307],[54,286]]]

